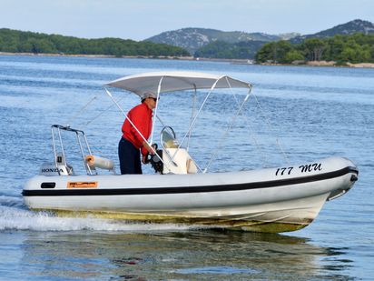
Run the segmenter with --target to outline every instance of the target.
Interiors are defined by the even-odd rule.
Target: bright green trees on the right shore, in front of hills
[[[271,42],[257,52],[257,63],[292,64],[308,61],[347,63],[374,63],[374,35],[353,34],[308,38],[300,44],[288,41]]]

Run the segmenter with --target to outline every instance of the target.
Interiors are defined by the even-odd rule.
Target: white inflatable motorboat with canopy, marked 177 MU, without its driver
[[[155,154],[149,159],[153,175],[116,175],[112,160],[92,153],[84,131],[52,125],[54,163],[44,163],[39,175],[25,184],[26,206],[69,216],[279,233],[310,225],[326,201],[347,193],[358,179],[358,168],[344,157],[238,172],[210,173],[200,167],[183,145],[214,89],[247,88],[248,95],[238,102],[241,110],[251,95],[251,84],[241,80],[195,72],[124,76],[105,85],[120,107],[109,86],[140,96],[199,89],[208,94],[181,142],[171,126],[163,126],[160,147],[153,146]],[[86,175],[75,175],[66,161],[61,137],[66,133],[78,139]],[[112,174],[100,175],[102,169]]]

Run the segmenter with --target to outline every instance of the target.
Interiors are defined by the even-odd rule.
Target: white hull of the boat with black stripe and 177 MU
[[[347,192],[357,175],[351,161],[330,157],[232,173],[34,176],[23,195],[31,209],[60,214],[278,233],[308,226],[326,200]]]

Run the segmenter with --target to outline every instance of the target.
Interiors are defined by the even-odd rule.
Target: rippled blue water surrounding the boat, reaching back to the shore
[[[212,171],[346,156],[359,166],[359,181],[347,195],[328,202],[310,226],[281,235],[123,224],[29,211],[21,191],[27,178],[53,159],[50,125],[84,129],[94,152],[118,165],[123,115],[104,93],[103,84],[159,70],[228,74],[254,85],[257,99],[251,96],[223,140],[218,136],[237,109],[231,93],[213,95],[202,111],[191,142],[192,155],[202,167],[215,151]],[[113,95],[124,111],[139,102],[120,91],[113,90]],[[180,138],[189,125],[191,102],[191,95],[177,93],[162,95],[159,103],[162,121],[172,125]],[[0,279],[369,280],[374,276],[374,69],[0,55],[0,115]],[[157,125],[155,131],[160,128]],[[157,135],[154,140],[158,141]],[[74,146],[68,149],[72,155],[76,152]],[[74,163],[76,157],[68,160]],[[74,168],[79,170],[79,164]],[[144,171],[152,173],[150,167]]]

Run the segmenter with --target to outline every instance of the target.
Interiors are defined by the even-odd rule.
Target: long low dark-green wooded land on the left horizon
[[[181,47],[153,42],[136,42],[119,38],[84,39],[7,28],[0,29],[0,52],[151,57],[190,55]]]

